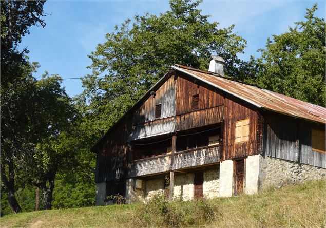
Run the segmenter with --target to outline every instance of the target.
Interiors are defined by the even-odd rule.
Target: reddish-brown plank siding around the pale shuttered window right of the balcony
[[[257,112],[238,99],[225,98],[223,129],[223,160],[257,154]],[[250,135],[246,142],[235,143],[236,121],[249,119]]]

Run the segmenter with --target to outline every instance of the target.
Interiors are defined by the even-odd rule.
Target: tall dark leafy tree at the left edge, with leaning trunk
[[[1,35],[1,165],[2,184],[8,194],[12,211],[21,212],[15,197],[15,160],[22,150],[22,139],[27,129],[24,117],[25,99],[33,78],[35,65],[28,63],[27,49],[17,45],[29,33],[32,25],[45,26],[42,20],[44,1],[0,1]],[[27,137],[28,138],[28,137]]]

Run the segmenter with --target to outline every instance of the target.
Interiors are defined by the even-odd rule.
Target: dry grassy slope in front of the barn
[[[2,227],[326,226],[326,183],[269,189],[258,195],[166,204],[39,211],[0,218]],[[171,222],[172,221],[172,222]]]

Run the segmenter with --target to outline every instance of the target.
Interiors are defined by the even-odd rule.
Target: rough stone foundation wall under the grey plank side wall
[[[260,156],[259,190],[269,186],[281,187],[287,184],[315,179],[326,179],[326,169],[268,156]]]

